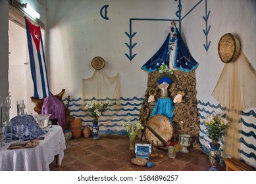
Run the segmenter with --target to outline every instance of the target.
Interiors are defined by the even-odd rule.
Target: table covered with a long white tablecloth
[[[0,170],[1,171],[49,171],[49,164],[57,156],[57,164],[61,165],[66,143],[61,126],[53,126],[45,137],[39,140],[39,145],[34,148],[12,149],[7,148],[11,143],[5,143],[0,148]]]

